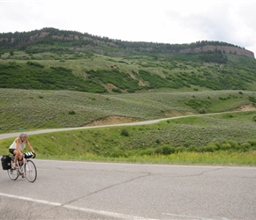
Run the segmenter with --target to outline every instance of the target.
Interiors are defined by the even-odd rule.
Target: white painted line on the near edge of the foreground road
[[[49,201],[44,201],[44,200],[37,200],[37,199],[32,199],[32,198],[14,195],[14,194],[0,193],[0,196],[24,200],[24,201],[28,201],[28,202],[37,202],[37,203],[51,205],[51,206],[64,207],[66,209],[79,210],[79,211],[99,214],[99,215],[103,215],[103,216],[112,216],[112,217],[118,217],[118,218],[124,218],[124,219],[155,220],[152,218],[145,218],[145,217],[140,217],[140,216],[129,216],[129,215],[124,215],[124,214],[120,214],[120,213],[116,213],[116,212],[102,211],[102,210],[96,210],[96,209],[85,209],[85,208],[80,208],[80,207],[76,207],[76,206],[72,206],[72,205],[61,204],[59,202],[49,202]]]

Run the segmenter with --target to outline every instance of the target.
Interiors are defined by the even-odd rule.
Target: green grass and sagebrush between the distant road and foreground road
[[[255,165],[255,111],[200,115],[150,125],[30,136],[38,158],[185,165]],[[13,138],[0,141],[8,154]]]

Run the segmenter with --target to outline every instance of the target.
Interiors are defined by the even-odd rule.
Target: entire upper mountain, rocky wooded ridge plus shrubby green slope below
[[[128,42],[44,28],[1,33],[0,47],[1,88],[93,93],[256,90],[252,52],[224,42]]]

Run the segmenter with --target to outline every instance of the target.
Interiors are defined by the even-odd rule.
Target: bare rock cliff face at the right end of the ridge
[[[187,48],[187,49],[181,49],[180,53],[200,53],[200,52],[207,52],[207,51],[222,51],[226,54],[236,54],[236,55],[246,55],[249,57],[254,58],[254,54],[252,51],[243,49],[243,48],[236,48],[236,47],[228,47],[228,46],[213,46],[213,45],[207,45],[201,48]]]

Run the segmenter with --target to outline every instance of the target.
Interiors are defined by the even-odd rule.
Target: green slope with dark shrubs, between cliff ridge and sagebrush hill
[[[17,51],[1,55],[0,87],[93,93],[255,91],[256,61],[243,55],[225,57],[227,63],[202,62],[200,55],[111,57]]]

